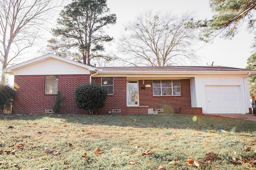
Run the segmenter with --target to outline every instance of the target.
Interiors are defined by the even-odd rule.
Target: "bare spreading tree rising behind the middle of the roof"
[[[123,61],[135,66],[179,65],[184,59],[195,61],[192,41],[193,29],[186,28],[190,15],[181,17],[161,12],[145,12],[125,25],[119,41],[120,51],[126,54]]]

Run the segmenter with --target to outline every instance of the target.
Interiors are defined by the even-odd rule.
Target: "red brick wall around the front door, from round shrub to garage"
[[[92,80],[101,84],[100,77]],[[151,87],[145,87],[150,84]],[[161,113],[180,113],[180,107],[191,107],[190,80],[180,80],[181,96],[153,96],[152,80],[139,80],[139,104],[140,107],[126,106],[126,77],[114,77],[114,94],[108,95],[106,105],[100,109],[100,113],[108,113],[112,109],[121,109],[123,114],[148,113],[148,108],[164,109]],[[142,89],[142,87],[145,87]]]

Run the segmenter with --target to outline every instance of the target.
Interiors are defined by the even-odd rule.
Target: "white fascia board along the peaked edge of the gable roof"
[[[45,60],[48,60],[48,59],[56,59],[56,60],[60,60],[60,61],[63,61],[65,63],[69,63],[69,64],[74,64],[76,66],[80,66],[82,68],[86,68],[88,69],[89,71],[95,71],[96,72],[96,68],[92,67],[92,66],[88,66],[88,65],[85,65],[85,64],[82,64],[82,63],[78,63],[76,61],[72,61],[70,59],[66,59],[64,57],[60,57],[60,56],[57,56],[57,55],[53,55],[53,54],[46,54],[46,55],[42,55],[40,57],[36,57],[34,59],[31,59],[31,60],[28,60],[28,61],[24,61],[22,63],[19,63],[19,64],[16,64],[14,66],[10,66],[8,68],[5,68],[3,69],[3,72],[7,72],[8,74],[13,74],[12,73],[12,70],[14,69],[17,69],[17,68],[23,68],[23,67],[26,67],[26,66],[29,66],[29,65],[32,65],[32,64],[35,64],[35,63],[39,63],[39,62],[42,62],[42,61],[45,61]]]

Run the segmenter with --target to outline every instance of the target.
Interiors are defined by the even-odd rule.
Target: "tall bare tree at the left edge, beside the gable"
[[[0,61],[2,69],[19,58],[40,37],[40,29],[58,7],[58,0],[0,0]],[[5,73],[2,72],[5,84]]]

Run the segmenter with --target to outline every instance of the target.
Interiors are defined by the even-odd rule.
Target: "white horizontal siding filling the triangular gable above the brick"
[[[25,68],[14,69],[14,75],[90,74],[88,69],[56,59],[48,59]]]

